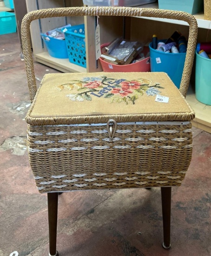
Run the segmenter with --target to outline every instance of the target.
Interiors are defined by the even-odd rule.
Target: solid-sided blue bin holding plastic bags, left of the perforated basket
[[[59,40],[46,34],[41,34],[50,56],[59,59],[67,59],[66,40]]]

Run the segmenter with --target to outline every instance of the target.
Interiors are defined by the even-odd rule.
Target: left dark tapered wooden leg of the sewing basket
[[[48,227],[49,227],[49,256],[58,256],[56,250],[58,192],[47,193]]]

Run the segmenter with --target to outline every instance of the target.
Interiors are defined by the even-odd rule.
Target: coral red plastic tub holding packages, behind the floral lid
[[[108,43],[101,45],[101,52],[102,49],[108,45]],[[99,58],[99,61],[104,72],[150,72],[150,57],[128,65],[111,64],[103,60],[101,57]]]

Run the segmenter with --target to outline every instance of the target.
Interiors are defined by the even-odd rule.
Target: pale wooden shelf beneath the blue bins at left
[[[36,61],[48,66],[53,67],[61,72],[81,72],[86,73],[85,67],[80,67],[69,62],[69,59],[57,59],[51,57],[47,52],[35,54]]]

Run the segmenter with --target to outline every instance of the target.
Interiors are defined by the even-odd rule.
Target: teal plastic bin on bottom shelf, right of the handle
[[[196,98],[211,105],[211,59],[206,59],[196,52]]]

